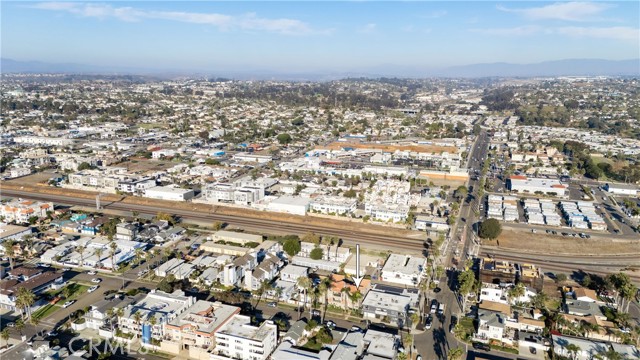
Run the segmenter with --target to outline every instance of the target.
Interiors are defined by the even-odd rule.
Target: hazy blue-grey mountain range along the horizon
[[[274,80],[333,80],[345,77],[532,77],[532,76],[640,76],[640,59],[599,60],[568,59],[545,61],[535,64],[490,63],[453,66],[448,68],[422,68],[385,64],[357,71],[285,73],[270,70],[180,70],[141,69],[133,67],[107,67],[74,63],[47,63],[41,61],[17,61],[0,59],[2,73],[80,73],[80,74],[211,74],[235,79]]]

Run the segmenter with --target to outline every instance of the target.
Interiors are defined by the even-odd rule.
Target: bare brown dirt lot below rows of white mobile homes
[[[563,255],[624,255],[640,254],[640,241],[602,238],[567,238],[528,231],[503,230],[497,241],[483,241],[483,245],[509,248],[522,252]]]

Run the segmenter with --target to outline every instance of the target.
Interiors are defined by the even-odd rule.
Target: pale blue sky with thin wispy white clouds
[[[3,58],[180,70],[640,58],[640,2],[2,1]]]

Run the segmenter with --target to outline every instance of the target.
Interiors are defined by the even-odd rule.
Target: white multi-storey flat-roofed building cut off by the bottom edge
[[[251,318],[236,314],[215,332],[211,360],[265,360],[278,344],[277,334],[278,327],[271,321],[252,326]]]

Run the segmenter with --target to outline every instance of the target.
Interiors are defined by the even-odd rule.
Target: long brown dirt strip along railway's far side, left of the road
[[[3,189],[4,197],[22,197],[33,200],[51,201],[55,204],[77,205],[77,206],[95,206],[93,199],[78,198],[69,195],[54,195],[40,192],[30,192],[13,189]],[[401,249],[405,251],[422,251],[424,248],[425,238],[416,234],[416,237],[405,237],[388,234],[378,234],[373,232],[363,232],[357,230],[343,230],[330,228],[329,226],[318,226],[311,224],[303,224],[299,222],[274,221],[269,219],[261,219],[257,217],[240,217],[232,215],[221,215],[214,213],[203,213],[194,210],[183,210],[175,207],[129,204],[121,202],[112,202],[103,204],[104,209],[118,211],[137,211],[140,214],[156,215],[158,212],[166,212],[180,217],[183,221],[197,221],[213,223],[215,221],[227,223],[229,225],[248,228],[256,231],[264,231],[270,234],[298,234],[303,235],[308,232],[314,232],[322,235],[337,236],[346,243],[359,243],[362,245],[374,245],[386,249]]]

